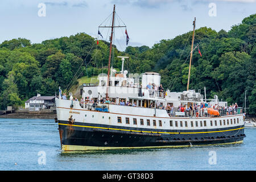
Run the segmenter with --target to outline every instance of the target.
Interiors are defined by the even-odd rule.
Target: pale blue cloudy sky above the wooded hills
[[[229,31],[256,13],[256,0],[1,0],[0,43],[15,38],[41,43],[79,32],[108,40],[109,28],[98,26],[109,26],[114,5],[115,25],[125,24],[130,38],[127,46],[152,47],[162,39],[192,31],[195,17],[196,29]],[[125,28],[115,28],[114,38],[124,51]]]

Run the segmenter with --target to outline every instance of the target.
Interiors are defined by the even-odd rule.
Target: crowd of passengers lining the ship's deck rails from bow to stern
[[[162,85],[160,85],[160,86],[162,86]],[[61,99],[67,100],[67,95],[64,93],[63,96],[61,97]],[[69,97],[69,100],[79,101],[77,99],[77,97],[73,98],[72,96]],[[84,98],[81,98],[81,100],[80,100],[80,105],[82,106],[84,104],[85,105],[86,104],[116,104],[116,102],[115,102],[114,98],[110,101],[109,98],[106,98],[106,99],[101,98],[100,100],[94,100],[93,98],[86,97],[85,100],[84,100]],[[125,102],[123,99],[119,102],[118,105],[137,107],[137,103],[135,101],[132,104],[130,101]],[[202,102],[201,104],[194,103],[193,105],[190,105],[190,106],[180,104],[179,107],[174,107],[173,105],[168,104],[165,107],[165,106],[161,105],[159,101],[156,101],[155,104],[153,104],[153,102],[151,102],[148,107],[156,108],[156,109],[165,109],[165,110],[167,110],[167,113],[170,116],[174,116],[175,112],[184,113],[185,116],[195,116],[197,114],[199,116],[205,116],[205,115],[207,115],[207,112],[205,113],[205,111],[207,111],[207,110],[204,110],[204,108],[209,108],[209,107],[218,110],[220,115],[237,114],[238,105],[237,105],[237,103],[235,103],[228,107],[222,107],[222,106],[211,105],[211,104]]]

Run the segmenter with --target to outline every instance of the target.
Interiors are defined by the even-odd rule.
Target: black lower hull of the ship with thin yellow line
[[[77,146],[114,149],[241,143],[245,137],[243,125],[208,130],[152,130],[80,122],[71,125],[67,121],[59,121],[59,132],[63,150],[68,150],[64,146],[76,146],[69,147],[71,150],[84,150]]]

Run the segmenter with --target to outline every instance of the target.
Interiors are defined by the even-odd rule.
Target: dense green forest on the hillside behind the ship
[[[195,31],[189,89],[207,89],[207,98],[217,94],[228,104],[245,105],[256,113],[256,14],[225,30],[201,27]],[[164,89],[187,89],[192,31],[154,46],[131,47],[124,52],[114,46],[112,66],[121,68],[117,56],[129,56],[125,69],[130,73],[154,71],[161,74]],[[200,49],[201,56],[198,48]],[[106,73],[109,43],[85,33],[31,44],[18,38],[0,44],[0,109],[19,106],[40,93],[53,96],[59,86],[68,90],[82,76]]]

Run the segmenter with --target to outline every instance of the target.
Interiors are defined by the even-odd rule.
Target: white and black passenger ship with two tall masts
[[[113,19],[114,13],[115,7]],[[194,38],[195,21],[193,23]],[[112,36],[110,55],[111,48]],[[193,40],[191,56],[192,51]],[[125,57],[121,58],[125,61]],[[190,65],[191,62],[189,68]],[[159,73],[146,72],[139,77],[127,76],[127,73],[123,71],[123,64],[121,72],[110,69],[109,59],[108,75],[100,75],[98,81],[83,84],[82,98],[110,98],[110,104],[62,100],[61,95],[56,98],[61,150],[189,147],[243,142],[245,127],[241,107],[231,113],[209,106],[187,112],[162,109],[167,105],[178,108],[181,104],[188,107],[206,103],[214,108],[226,107],[227,102],[220,102],[217,96],[214,100],[206,100],[200,90],[160,92],[148,89],[150,83],[160,85]],[[133,106],[120,105],[122,100],[125,103],[130,101]]]

